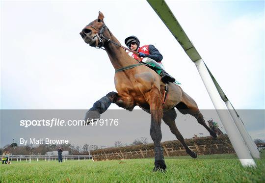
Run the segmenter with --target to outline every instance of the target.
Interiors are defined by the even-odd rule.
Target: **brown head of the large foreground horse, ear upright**
[[[103,19],[103,13],[99,12],[98,18],[85,26],[80,32],[84,42],[91,47],[101,48],[104,45],[104,40],[101,39],[100,35],[103,34],[107,27]]]

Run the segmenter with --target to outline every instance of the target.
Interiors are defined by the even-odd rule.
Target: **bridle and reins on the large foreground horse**
[[[95,37],[98,37],[98,38],[99,38],[99,42],[100,42],[100,44],[99,44],[98,46],[95,46],[95,48],[105,50],[105,49],[102,48],[102,47],[105,47],[108,43],[112,43],[112,44],[114,44],[114,45],[117,45],[117,46],[119,46],[119,47],[121,47],[121,48],[123,48],[123,49],[129,51],[129,52],[132,52],[132,53],[134,53],[134,54],[136,54],[136,55],[139,55],[139,53],[134,52],[134,51],[132,51],[132,50],[130,50],[130,49],[128,49],[128,48],[126,48],[126,47],[124,47],[124,46],[118,44],[118,43],[115,43],[114,41],[111,41],[109,38],[106,38],[106,37],[103,35],[103,33],[105,32],[106,29],[107,29],[107,31],[108,31],[109,33],[110,33],[110,31],[109,31],[109,29],[107,28],[107,26],[105,25],[105,23],[103,23],[103,26],[101,27],[100,30],[98,30],[97,28],[95,28],[95,27],[93,27],[93,26],[91,26],[91,27],[94,28],[96,31],[98,31],[98,32],[96,33],[96,35],[93,37],[93,39],[94,39]],[[110,33],[110,34],[111,34],[111,33]],[[105,39],[105,40],[107,41],[106,44],[105,44],[105,42],[103,41],[103,39]]]

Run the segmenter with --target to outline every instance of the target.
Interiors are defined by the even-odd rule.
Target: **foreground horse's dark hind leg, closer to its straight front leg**
[[[177,117],[177,113],[175,111],[175,109],[171,109],[168,110],[166,112],[164,112],[163,115],[163,121],[165,122],[165,124],[168,125],[170,131],[176,135],[177,139],[182,143],[182,145],[184,146],[186,153],[193,157],[196,158],[197,154],[195,152],[193,152],[191,149],[189,149],[189,147],[186,145],[184,138],[182,136],[182,134],[180,133],[180,131],[178,130],[176,123],[175,123],[175,119]]]

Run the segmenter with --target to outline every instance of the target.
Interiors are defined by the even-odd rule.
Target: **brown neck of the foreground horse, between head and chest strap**
[[[111,41],[120,44],[113,35],[110,37]],[[129,56],[123,48],[114,45],[111,42],[105,46],[105,49],[115,70],[138,63],[138,61]]]

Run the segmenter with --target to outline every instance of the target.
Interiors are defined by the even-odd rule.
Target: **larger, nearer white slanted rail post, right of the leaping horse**
[[[230,142],[233,145],[241,164],[243,166],[256,167],[256,163],[251,157],[246,145],[244,144],[241,135],[233,119],[231,118],[229,111],[225,107],[203,60],[199,59],[195,61],[194,64],[199,71],[207,92],[212,100],[212,104],[214,105],[216,112],[221,119],[221,122],[225,128],[225,131],[227,132]]]

